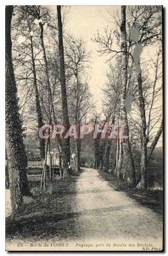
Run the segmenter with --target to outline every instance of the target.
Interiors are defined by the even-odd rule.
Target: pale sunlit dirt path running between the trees
[[[78,229],[84,241],[157,243],[161,247],[162,220],[124,192],[109,187],[97,170],[85,169],[77,182]]]

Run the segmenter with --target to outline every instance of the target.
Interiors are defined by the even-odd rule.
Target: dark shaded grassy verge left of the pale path
[[[76,182],[59,180],[48,186],[45,193],[36,195],[34,200],[23,205],[14,219],[6,218],[6,236],[11,239],[33,238],[36,241],[56,238],[76,239]]]

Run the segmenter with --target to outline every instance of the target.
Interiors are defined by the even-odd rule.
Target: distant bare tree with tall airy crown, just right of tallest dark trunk
[[[65,39],[65,64],[69,70],[68,102],[70,122],[76,125],[80,136],[81,122],[87,118],[92,110],[91,93],[87,84],[87,72],[89,65],[89,53],[85,43],[70,35]],[[76,170],[81,166],[81,139],[75,140],[76,145]]]

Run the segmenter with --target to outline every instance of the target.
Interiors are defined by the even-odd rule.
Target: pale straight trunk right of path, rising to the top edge
[[[121,98],[120,98],[120,108],[121,108],[121,120],[126,128],[126,135],[128,138],[123,145],[124,157],[127,160],[126,174],[127,183],[135,185],[135,170],[132,159],[131,145],[129,141],[129,127],[126,114],[126,84],[127,84],[127,45],[126,45],[126,6],[121,7],[121,51],[122,51],[122,67],[121,67]],[[121,152],[121,150],[120,150]],[[121,155],[120,155],[121,157]],[[120,170],[119,170],[120,171]]]

